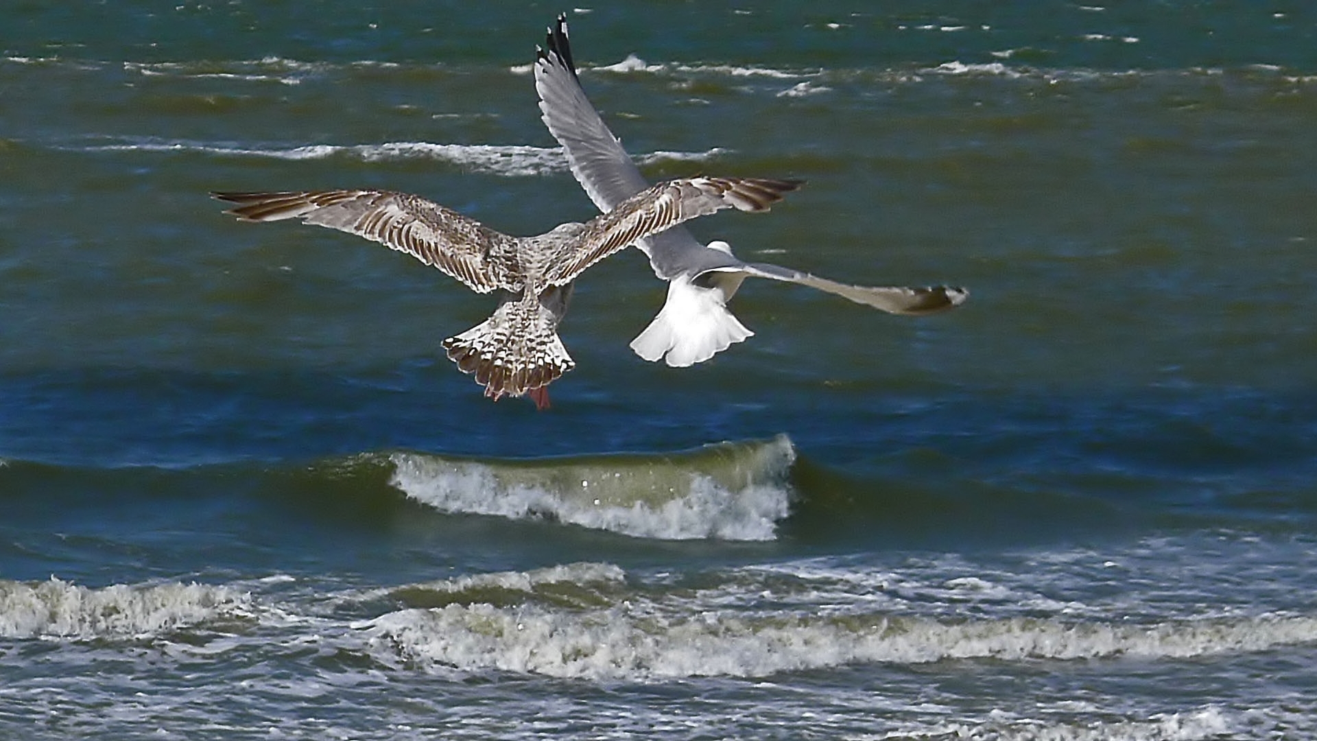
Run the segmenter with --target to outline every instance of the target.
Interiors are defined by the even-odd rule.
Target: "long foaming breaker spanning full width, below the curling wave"
[[[1317,617],[1303,612],[957,617],[901,613],[863,600],[839,608],[828,595],[810,604],[752,599],[745,605],[701,597],[684,579],[631,578],[614,564],[587,562],[331,593],[290,591],[274,578],[104,588],[58,579],[0,581],[0,639],[145,639],[195,646],[191,661],[220,661],[257,643],[324,643],[342,661],[357,657],[345,668],[587,682],[763,678],[942,661],[1162,662],[1317,643]],[[714,592],[743,595],[736,579],[735,571],[698,578],[727,587]]]

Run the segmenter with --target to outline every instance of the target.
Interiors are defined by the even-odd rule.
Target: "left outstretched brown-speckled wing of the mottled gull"
[[[212,193],[237,203],[227,214],[245,222],[300,219],[378,241],[461,281],[477,293],[503,287],[490,249],[512,237],[416,195],[385,190]]]

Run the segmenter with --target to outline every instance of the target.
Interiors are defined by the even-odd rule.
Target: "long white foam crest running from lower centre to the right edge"
[[[375,646],[421,666],[585,679],[765,676],[848,663],[944,659],[1192,658],[1317,641],[1310,617],[1154,626],[1011,618],[759,617],[706,612],[669,620],[630,605],[594,612],[446,605],[385,614]]]

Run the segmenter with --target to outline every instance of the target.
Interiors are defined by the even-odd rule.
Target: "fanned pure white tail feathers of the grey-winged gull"
[[[687,276],[673,278],[666,303],[645,331],[631,340],[631,349],[651,363],[666,356],[665,363],[673,368],[703,363],[755,335],[732,316],[726,303],[727,295],[716,286],[697,286]]]

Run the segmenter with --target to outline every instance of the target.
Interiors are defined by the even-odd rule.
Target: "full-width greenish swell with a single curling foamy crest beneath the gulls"
[[[1249,454],[1249,451],[1245,451]],[[1251,454],[1250,454],[1251,455]],[[51,497],[84,506],[113,492],[120,509],[154,513],[150,492],[191,492],[180,506],[230,498],[233,483],[270,506],[307,514],[356,513],[335,526],[361,527],[410,517],[416,504],[436,513],[566,523],[655,539],[719,539],[910,547],[967,539],[1011,543],[1077,533],[1147,527],[1308,531],[1317,496],[1301,488],[1255,485],[1208,496],[1175,489],[1146,493],[1146,473],[1105,479],[1079,473],[1055,485],[946,477],[944,458],[915,450],[877,468],[839,468],[801,455],[786,435],[684,452],[595,454],[544,459],[466,458],[383,451],[311,463],[238,458],[68,464],[11,456],[0,460],[0,497],[13,517],[40,519]],[[362,519],[362,517],[373,519]],[[36,521],[34,521],[36,522]]]

